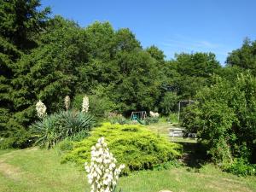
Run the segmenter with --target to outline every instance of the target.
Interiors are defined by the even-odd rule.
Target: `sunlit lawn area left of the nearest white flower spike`
[[[55,150],[28,148],[1,154],[0,191],[84,191],[84,173],[60,162]]]

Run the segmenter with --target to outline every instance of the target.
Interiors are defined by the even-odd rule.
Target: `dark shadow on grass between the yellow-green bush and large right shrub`
[[[200,169],[209,160],[206,149],[201,143],[180,143],[183,145],[181,161],[185,166]]]

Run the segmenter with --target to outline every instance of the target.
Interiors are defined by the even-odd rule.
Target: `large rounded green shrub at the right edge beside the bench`
[[[197,94],[185,112],[183,126],[208,148],[212,160],[232,164],[234,158],[255,163],[256,79],[241,73],[230,82],[214,77],[215,84]]]

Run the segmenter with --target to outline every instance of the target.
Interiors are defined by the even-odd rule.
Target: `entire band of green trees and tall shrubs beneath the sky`
[[[179,100],[197,99],[186,126],[212,141],[209,149],[231,144],[230,154],[239,154],[247,138],[252,142],[246,147],[255,151],[255,42],[246,40],[230,53],[227,67],[212,53],[167,61],[155,45],[143,49],[128,28],[99,21],[83,28],[49,18],[49,8],[38,6],[39,0],[0,0],[0,137],[10,138],[11,147],[29,145],[39,99],[53,113],[64,108],[65,96],[77,107],[86,94],[96,117],[135,110],[168,115]]]

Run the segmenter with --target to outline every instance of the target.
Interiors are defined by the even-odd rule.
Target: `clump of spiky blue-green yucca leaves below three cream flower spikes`
[[[68,110],[50,114],[36,121],[31,130],[36,145],[52,148],[66,138],[79,141],[87,137],[93,122],[89,113]]]

